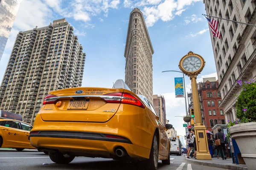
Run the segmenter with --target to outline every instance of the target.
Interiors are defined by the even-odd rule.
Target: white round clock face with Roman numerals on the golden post
[[[186,71],[193,72],[193,71],[198,71],[199,68],[201,68],[202,62],[199,57],[189,56],[183,60],[182,66]]]

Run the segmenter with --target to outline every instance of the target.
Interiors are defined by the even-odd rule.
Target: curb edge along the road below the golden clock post
[[[186,161],[194,163],[194,164],[200,164],[200,165],[209,166],[209,167],[224,168],[224,169],[229,169],[229,170],[248,170],[247,167],[238,167],[235,165],[225,165],[225,164],[216,164],[216,163],[212,163],[212,162],[195,161],[195,160],[187,159],[187,158],[186,158]]]

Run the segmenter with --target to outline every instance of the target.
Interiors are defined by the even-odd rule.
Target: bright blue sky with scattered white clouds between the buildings
[[[87,54],[82,86],[111,88],[116,79],[125,79],[124,49],[134,7],[143,11],[154,48],[153,92],[165,96],[167,119],[184,135],[182,118],[174,117],[185,115],[184,99],[175,99],[174,94],[174,77],[182,74],[161,72],[179,71],[180,58],[193,51],[206,61],[198,78],[216,76],[203,0],[23,0],[0,62],[0,79],[18,31],[65,17]],[[186,77],[187,91],[189,81]]]

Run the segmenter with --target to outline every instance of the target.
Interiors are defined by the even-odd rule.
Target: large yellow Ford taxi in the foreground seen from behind
[[[29,140],[58,164],[76,156],[140,160],[150,170],[170,164],[170,139],[154,107],[122,79],[113,88],[51,91],[37,113]]]

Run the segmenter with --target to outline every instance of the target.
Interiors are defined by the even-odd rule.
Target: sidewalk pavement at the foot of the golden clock
[[[209,166],[209,167],[218,167],[218,168],[224,168],[229,170],[248,170],[248,168],[244,164],[239,164],[239,165],[233,164],[231,158],[226,160],[222,160],[221,158],[219,159],[212,158],[212,160],[197,160],[194,158],[190,158],[190,159],[186,158],[186,160],[194,164],[200,164],[200,165]]]

